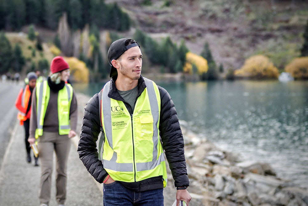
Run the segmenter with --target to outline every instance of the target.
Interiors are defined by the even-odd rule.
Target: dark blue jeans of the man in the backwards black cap
[[[116,205],[142,205],[142,206],[163,206],[163,188],[134,192],[124,187],[120,182],[115,181],[104,184],[103,204],[104,206]]]

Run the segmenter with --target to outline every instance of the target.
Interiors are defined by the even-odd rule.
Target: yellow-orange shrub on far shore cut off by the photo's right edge
[[[294,79],[308,79],[308,57],[298,57],[293,59],[285,67]]]

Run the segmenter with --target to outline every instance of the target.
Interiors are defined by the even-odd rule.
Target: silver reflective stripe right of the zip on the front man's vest
[[[164,161],[164,155],[160,154],[160,157],[158,160],[157,158],[157,144],[158,144],[158,129],[157,129],[157,123],[159,120],[159,108],[158,103],[156,99],[156,93],[154,90],[153,82],[147,78],[144,78],[145,84],[147,85],[147,91],[148,91],[148,97],[150,100],[150,107],[152,111],[153,116],[153,159],[152,162],[142,162],[142,163],[136,163],[136,170],[137,171],[144,171],[144,170],[152,170],[156,166],[160,164],[160,162]]]

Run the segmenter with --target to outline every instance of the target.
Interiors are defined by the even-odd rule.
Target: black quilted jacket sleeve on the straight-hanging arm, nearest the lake
[[[173,101],[168,92],[158,87],[160,91],[160,138],[163,143],[166,158],[169,163],[174,185],[189,186],[184,155],[184,139]]]

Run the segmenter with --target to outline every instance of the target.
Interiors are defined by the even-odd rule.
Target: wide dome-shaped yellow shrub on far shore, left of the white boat
[[[268,57],[255,55],[247,59],[241,69],[235,70],[234,74],[249,78],[278,78],[279,72]]]

